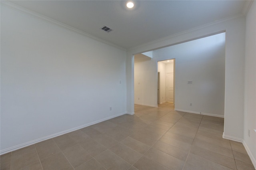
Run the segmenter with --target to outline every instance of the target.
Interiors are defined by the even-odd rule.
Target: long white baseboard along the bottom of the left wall
[[[98,121],[94,121],[94,122],[91,122],[91,123],[87,123],[87,124],[81,125],[81,126],[79,126],[79,127],[75,127],[75,128],[71,128],[71,129],[68,129],[68,130],[64,130],[64,131],[62,131],[62,132],[58,132],[58,133],[55,133],[55,134],[52,134],[52,135],[49,135],[49,136],[45,136],[45,137],[42,137],[42,138],[39,138],[39,139],[36,139],[36,140],[32,140],[32,141],[30,141],[30,142],[26,142],[26,143],[23,143],[23,144],[19,144],[19,145],[17,145],[17,146],[13,146],[13,147],[10,147],[10,148],[7,148],[7,149],[3,149],[3,150],[0,151],[0,155],[6,154],[6,153],[8,153],[8,152],[12,152],[12,151],[14,151],[14,150],[18,150],[18,149],[24,148],[24,147],[26,147],[26,146],[30,146],[30,145],[32,145],[32,144],[36,144],[36,143],[38,143],[38,142],[42,142],[42,141],[47,140],[47,139],[50,139],[50,138],[54,138],[54,137],[60,136],[60,135],[62,135],[62,134],[66,134],[66,133],[69,133],[69,132],[73,132],[73,131],[75,131],[75,130],[78,130],[78,129],[81,129],[81,128],[85,128],[85,127],[94,125],[94,124],[96,124],[96,123],[100,123],[100,122],[103,122],[103,121],[106,121],[106,120],[108,120],[108,119],[112,119],[112,118],[114,118],[114,117],[118,117],[118,116],[121,116],[121,115],[124,115],[124,114],[126,114],[126,112],[120,113],[120,114],[118,114],[118,115],[110,116],[110,117],[107,117],[107,118],[104,118],[104,119],[100,119],[100,120],[98,120]],[[128,114],[129,114],[129,113],[128,113]],[[134,114],[134,113],[133,113],[133,114]]]

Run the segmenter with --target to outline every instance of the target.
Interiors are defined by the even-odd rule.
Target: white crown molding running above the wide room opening
[[[160,39],[157,39],[157,40],[153,40],[151,42],[148,42],[148,43],[144,43],[144,44],[141,44],[141,45],[138,45],[138,46],[135,46],[135,47],[132,47],[132,48],[129,48],[127,51],[133,51],[133,50],[136,50],[138,48],[142,48],[142,47],[145,47],[145,46],[148,46],[148,45],[151,45],[151,44],[154,44],[154,43],[158,43],[158,42],[162,42],[162,41],[165,41],[165,40],[168,40],[168,39],[171,39],[171,38],[174,38],[174,37],[177,37],[177,36],[181,36],[183,34],[186,34],[186,33],[189,33],[189,32],[194,32],[196,30],[200,30],[200,29],[203,29],[203,28],[206,28],[206,27],[209,27],[209,26],[213,26],[213,25],[216,25],[216,24],[219,24],[219,23],[222,23],[222,22],[226,22],[228,20],[233,20],[233,19],[236,19],[236,18],[241,18],[241,17],[244,17],[244,14],[237,14],[237,15],[234,15],[234,16],[231,16],[231,17],[227,17],[227,18],[223,18],[221,20],[217,20],[217,21],[214,21],[214,22],[211,22],[211,23],[208,23],[208,24],[204,24],[202,26],[198,26],[198,27],[195,27],[195,28],[191,28],[189,30],[185,30],[185,31],[182,31],[182,32],[179,32],[177,34],[172,34],[170,36],[167,36],[167,37],[164,37],[164,38],[160,38]],[[222,32],[225,32],[225,30],[221,31],[221,32],[217,32],[215,34],[219,34],[219,33],[222,33]],[[214,35],[214,34],[212,34]],[[210,36],[210,35],[208,35]],[[191,41],[191,40],[189,40]],[[158,49],[158,48],[156,48]],[[152,51],[154,49],[150,49],[150,51]]]

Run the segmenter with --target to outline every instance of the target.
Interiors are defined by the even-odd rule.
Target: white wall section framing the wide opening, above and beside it
[[[186,32],[181,32],[170,37],[150,42],[127,51],[127,57],[142,51],[152,51],[160,47],[170,46],[188,40],[194,40],[202,36],[226,31],[226,61],[225,61],[225,123],[224,136],[242,140],[244,137],[244,39],[245,18],[237,16],[229,20],[223,20],[206,26],[198,27]],[[126,64],[126,76],[133,75],[133,65]],[[133,80],[127,79],[127,85],[133,87]],[[132,90],[132,88],[130,88]],[[134,99],[134,91],[130,91],[129,99]],[[236,100],[233,100],[236,98]],[[230,101],[230,102],[229,102]],[[128,110],[134,110],[133,103],[127,103]]]

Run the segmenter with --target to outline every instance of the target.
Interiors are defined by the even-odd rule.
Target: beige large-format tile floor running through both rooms
[[[1,170],[254,170],[224,119],[135,105],[122,115],[1,156]]]

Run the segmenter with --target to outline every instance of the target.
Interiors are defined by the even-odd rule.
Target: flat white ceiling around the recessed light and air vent
[[[123,0],[10,1],[125,49],[246,11],[244,0],[142,0],[128,10]],[[107,26],[112,32],[100,28]]]

